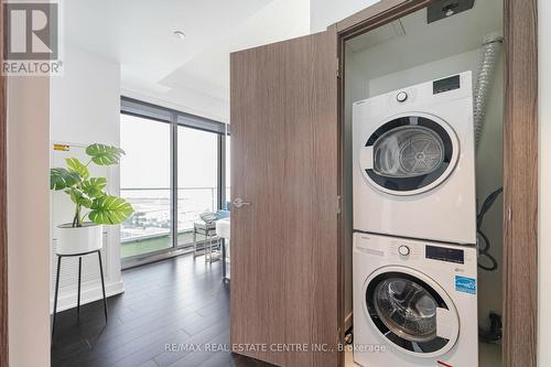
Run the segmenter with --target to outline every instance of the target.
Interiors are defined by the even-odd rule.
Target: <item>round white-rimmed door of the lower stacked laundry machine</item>
[[[406,267],[385,267],[369,277],[364,291],[364,311],[371,326],[400,352],[436,357],[457,342],[457,310],[447,293],[425,274]]]

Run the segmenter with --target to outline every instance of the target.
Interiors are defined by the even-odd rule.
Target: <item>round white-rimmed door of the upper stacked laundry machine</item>
[[[458,155],[457,137],[444,120],[421,112],[402,114],[370,133],[360,151],[360,169],[379,191],[415,195],[449,177]]]

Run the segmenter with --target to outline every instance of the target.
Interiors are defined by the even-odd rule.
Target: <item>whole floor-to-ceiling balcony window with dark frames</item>
[[[121,196],[134,207],[121,258],[132,266],[185,251],[199,215],[225,207],[229,137],[222,122],[128,98],[121,106]]]

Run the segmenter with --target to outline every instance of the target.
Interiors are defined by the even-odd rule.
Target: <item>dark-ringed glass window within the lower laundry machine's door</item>
[[[442,291],[443,292],[443,291]],[[396,347],[419,356],[447,352],[457,335],[439,335],[439,309],[451,305],[426,282],[401,272],[374,278],[366,307],[375,327]]]

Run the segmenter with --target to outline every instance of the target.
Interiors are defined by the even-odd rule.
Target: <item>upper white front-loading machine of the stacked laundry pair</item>
[[[353,106],[354,229],[476,244],[472,74]]]

